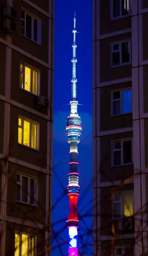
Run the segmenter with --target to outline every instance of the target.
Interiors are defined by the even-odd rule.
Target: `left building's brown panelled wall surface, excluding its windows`
[[[1,0],[17,9],[16,33],[0,24],[0,255],[14,255],[15,232],[36,238],[35,255],[51,244],[54,0]],[[21,9],[41,20],[40,44],[20,34]],[[1,21],[0,21],[1,22]],[[39,32],[39,31],[38,31]],[[37,96],[20,88],[20,62],[39,71],[38,95],[49,108],[37,108]],[[39,124],[38,150],[18,144],[18,116]],[[37,205],[16,201],[17,173],[37,179]],[[45,252],[46,250],[46,252]]]

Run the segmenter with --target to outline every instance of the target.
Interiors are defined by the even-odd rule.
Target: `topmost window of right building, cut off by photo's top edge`
[[[112,18],[131,14],[131,0],[112,0]]]

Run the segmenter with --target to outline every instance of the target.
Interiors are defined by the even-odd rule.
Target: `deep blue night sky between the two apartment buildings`
[[[70,114],[71,100],[71,79],[72,79],[72,44],[73,44],[73,17],[76,17],[76,56],[78,63],[76,65],[77,82],[77,100],[78,114],[82,119],[81,140],[87,137],[92,131],[92,0],[55,0],[55,65],[54,65],[54,142],[53,142],[53,190],[52,204],[54,205],[63,189],[55,177],[58,176],[62,186],[66,189],[69,173],[69,150],[67,143],[66,119]],[[92,217],[84,217],[89,210],[92,214],[92,134],[78,145],[78,172],[80,175],[79,184],[81,186],[81,195],[78,199],[78,210],[83,219],[80,220],[79,234],[84,234],[87,229],[92,229]],[[67,155],[68,154],[68,155]],[[67,156],[66,156],[67,155]],[[61,160],[65,157],[63,160]],[[57,164],[60,161],[59,164]],[[55,174],[54,174],[55,173]],[[89,203],[90,201],[90,203]],[[83,210],[81,210],[83,209]],[[55,205],[52,212],[52,228],[58,232],[58,242],[62,239],[68,239],[68,230],[65,227],[66,217],[69,215],[69,201],[65,195],[58,204]],[[59,224],[55,222],[59,221]],[[61,237],[61,239],[60,239]],[[92,243],[90,236],[82,237]],[[54,239],[52,245],[56,245]],[[79,247],[81,242],[79,243]],[[67,255],[67,244],[62,245],[62,253]],[[89,249],[91,249],[89,247]],[[83,255],[91,255],[87,249],[83,250]],[[59,248],[52,250],[52,256],[62,255]]]

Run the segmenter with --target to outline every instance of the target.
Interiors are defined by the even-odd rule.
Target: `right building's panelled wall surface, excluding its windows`
[[[93,240],[97,256],[111,255],[111,247],[116,246],[134,247],[135,256],[147,255],[148,249],[148,2],[131,2],[131,15],[112,18],[112,1],[93,0]],[[111,44],[126,39],[132,42],[131,64],[111,67]],[[132,113],[113,116],[111,93],[125,88],[132,90]],[[133,140],[133,164],[112,167],[111,142],[125,138]],[[115,221],[111,236],[111,193],[125,189],[133,190],[134,228],[119,234]]]

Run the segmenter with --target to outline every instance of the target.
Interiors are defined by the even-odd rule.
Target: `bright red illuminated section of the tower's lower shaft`
[[[69,195],[70,200],[70,213],[69,220],[78,220],[78,195]]]

